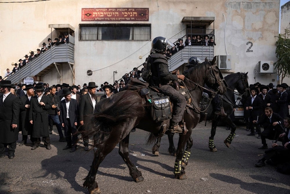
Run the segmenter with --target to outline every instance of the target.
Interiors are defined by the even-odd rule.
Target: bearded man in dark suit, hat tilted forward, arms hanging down
[[[75,88],[76,89],[76,88]],[[66,136],[66,147],[63,150],[70,149],[70,152],[77,150],[77,100],[71,97],[70,90],[65,88],[64,100],[60,102],[60,122],[64,127],[64,135]]]

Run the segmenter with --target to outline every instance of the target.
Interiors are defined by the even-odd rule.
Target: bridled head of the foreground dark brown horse
[[[220,94],[224,94],[226,92],[227,83],[224,81],[224,77],[218,68],[218,65],[215,64],[216,56],[212,61],[205,59],[201,65],[205,65],[206,73],[204,82],[207,86],[215,90]]]

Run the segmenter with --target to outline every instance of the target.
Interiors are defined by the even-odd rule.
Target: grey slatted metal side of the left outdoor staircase
[[[40,56],[30,61],[30,63],[20,68],[19,71],[10,74],[6,79],[16,84],[26,77],[42,76],[48,73],[53,67],[56,67],[56,63],[74,64],[74,40],[70,38],[70,41],[67,44],[53,45]]]

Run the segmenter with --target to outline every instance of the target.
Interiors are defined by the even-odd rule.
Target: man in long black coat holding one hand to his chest
[[[31,149],[34,150],[39,146],[40,137],[42,137],[46,149],[51,149],[47,119],[47,111],[51,109],[50,100],[42,93],[44,87],[41,83],[37,83],[34,90],[36,90],[37,95],[30,99],[29,110],[29,122],[33,124],[32,138],[34,145]]]

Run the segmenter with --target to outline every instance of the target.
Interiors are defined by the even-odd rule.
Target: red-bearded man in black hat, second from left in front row
[[[30,100],[34,96],[33,86],[31,84],[26,85],[27,94],[20,97],[20,129],[22,133],[22,141],[19,143],[19,146],[27,144],[28,135],[32,133],[32,124],[30,124],[29,117],[29,108]]]

